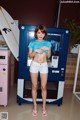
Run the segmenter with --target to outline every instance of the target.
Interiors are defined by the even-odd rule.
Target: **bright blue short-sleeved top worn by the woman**
[[[36,50],[36,49],[39,49],[41,47],[51,47],[51,43],[47,40],[42,40],[42,41],[39,41],[39,40],[33,40],[29,43],[28,47],[31,48],[33,51]],[[44,50],[45,53],[48,52],[48,50]]]

